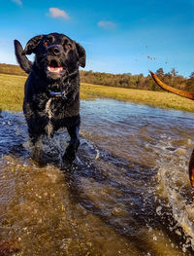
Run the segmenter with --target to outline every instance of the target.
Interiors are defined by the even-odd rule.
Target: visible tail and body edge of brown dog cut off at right
[[[166,91],[170,91],[170,92],[173,92],[173,93],[176,93],[182,97],[186,97],[186,98],[189,98],[189,99],[192,99],[194,100],[194,93],[192,92],[189,92],[189,91],[181,91],[181,90],[178,90],[176,88],[172,88],[170,86],[167,86],[166,84],[162,83],[162,81],[159,80],[159,78],[151,71],[149,71],[153,80],[155,81],[155,83],[161,87],[162,89],[166,90]],[[194,188],[194,150],[191,154],[191,158],[190,158],[190,162],[189,162],[189,178],[190,178],[190,183],[191,183],[191,186],[192,188]]]

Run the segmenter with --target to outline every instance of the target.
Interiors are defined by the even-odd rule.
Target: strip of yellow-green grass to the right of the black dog
[[[176,109],[194,113],[194,101],[167,91],[143,91],[81,84],[84,97],[106,97],[118,100],[146,104],[153,107]]]

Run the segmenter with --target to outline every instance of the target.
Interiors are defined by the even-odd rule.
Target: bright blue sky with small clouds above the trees
[[[14,39],[60,32],[84,47],[85,70],[194,71],[194,0],[1,0],[0,22],[1,63],[16,64]]]

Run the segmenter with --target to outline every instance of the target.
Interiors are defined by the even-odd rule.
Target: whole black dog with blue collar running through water
[[[31,142],[43,134],[52,136],[58,128],[67,128],[71,140],[63,156],[73,161],[80,145],[80,76],[85,66],[85,51],[69,37],[50,33],[30,39],[23,51],[15,40],[16,59],[29,73],[25,83],[23,112]],[[35,54],[31,63],[26,55]]]

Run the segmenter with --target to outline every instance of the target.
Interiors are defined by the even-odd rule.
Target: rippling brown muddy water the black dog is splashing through
[[[70,167],[66,133],[32,148],[22,113],[2,113],[0,241],[17,256],[193,255],[194,115],[97,99],[81,117]]]

